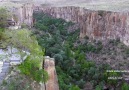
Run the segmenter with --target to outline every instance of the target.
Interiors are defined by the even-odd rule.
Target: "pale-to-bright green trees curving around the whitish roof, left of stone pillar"
[[[42,69],[44,49],[39,46],[36,37],[32,35],[31,31],[27,29],[5,30],[4,39],[2,44],[5,47],[15,47],[19,50],[21,60],[24,60],[25,52],[29,53],[26,60],[18,66],[22,74],[37,82],[47,81],[48,74]]]

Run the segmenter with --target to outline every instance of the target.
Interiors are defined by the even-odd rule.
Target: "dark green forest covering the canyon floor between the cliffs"
[[[55,58],[60,90],[79,90],[87,82],[94,89],[102,90],[105,84],[116,85],[117,80],[108,80],[109,76],[119,76],[119,73],[107,73],[109,65],[95,65],[86,58],[88,52],[99,53],[103,48],[101,42],[96,45],[79,39],[79,29],[69,33],[68,27],[73,23],[55,19],[43,13],[34,13],[35,34],[39,44],[45,48],[45,55]]]

